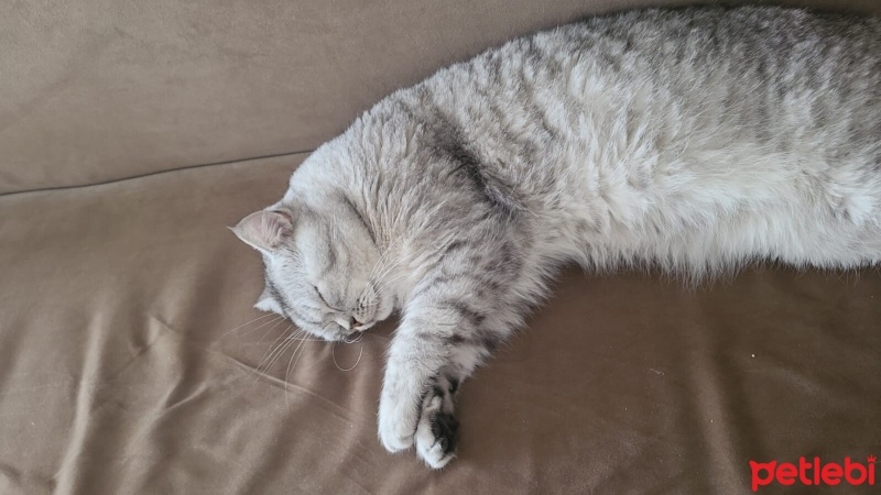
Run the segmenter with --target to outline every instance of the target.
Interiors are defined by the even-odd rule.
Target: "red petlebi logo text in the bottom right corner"
[[[874,464],[878,458],[869,455],[866,462],[845,458],[844,462],[826,462],[820,458],[798,458],[793,462],[750,461],[752,491],[772,483],[784,486],[874,486]]]

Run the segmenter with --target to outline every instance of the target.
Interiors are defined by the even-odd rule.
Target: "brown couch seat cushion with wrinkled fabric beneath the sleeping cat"
[[[393,324],[272,354],[225,228],[301,158],[0,198],[0,493],[742,493],[750,459],[877,453],[877,271],[577,270],[465,384],[458,460],[385,453]]]

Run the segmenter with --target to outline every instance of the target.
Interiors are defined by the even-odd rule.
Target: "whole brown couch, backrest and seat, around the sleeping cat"
[[[748,493],[750,461],[881,454],[878,270],[573,268],[465,385],[442,471],[377,438],[394,322],[273,352],[287,323],[252,308],[260,260],[226,226],[372,102],[518,34],[683,3],[9,2],[0,493]]]

